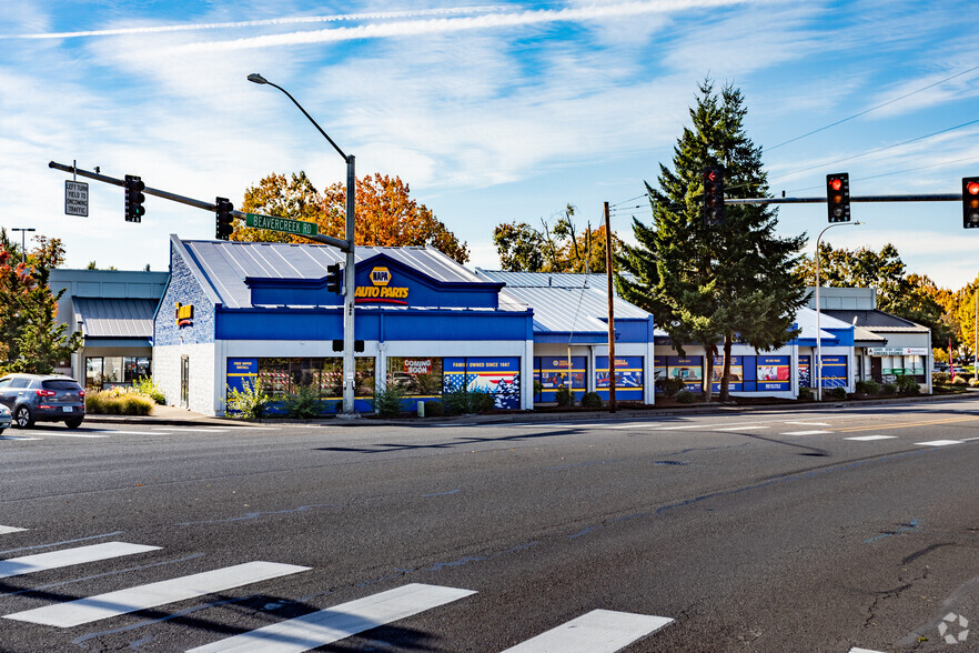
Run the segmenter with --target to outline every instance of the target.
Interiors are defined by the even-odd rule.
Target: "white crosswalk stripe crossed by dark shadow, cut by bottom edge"
[[[299,653],[475,594],[412,583],[198,646],[188,653]]]

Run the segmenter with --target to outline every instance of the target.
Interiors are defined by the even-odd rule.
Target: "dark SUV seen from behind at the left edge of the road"
[[[78,429],[85,416],[85,391],[71,376],[7,374],[0,378],[0,403],[13,413],[18,429],[34,422],[64,422]]]

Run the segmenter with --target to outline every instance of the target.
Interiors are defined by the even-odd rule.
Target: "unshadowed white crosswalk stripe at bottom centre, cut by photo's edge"
[[[673,622],[665,616],[593,610],[503,653],[613,653]]]

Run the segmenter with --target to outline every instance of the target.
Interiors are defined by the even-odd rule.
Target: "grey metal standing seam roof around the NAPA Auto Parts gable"
[[[193,240],[181,242],[193,259],[189,263],[203,271],[221,303],[228,308],[252,305],[251,290],[244,281],[246,278],[322,279],[326,275],[327,265],[342,263],[346,259],[336,248],[321,244]],[[485,281],[433,248],[357,247],[355,259],[360,263],[381,253],[438,281]]]

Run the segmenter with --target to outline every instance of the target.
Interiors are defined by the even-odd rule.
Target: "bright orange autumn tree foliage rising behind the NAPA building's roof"
[[[431,245],[451,259],[465,263],[470,250],[460,242],[432,211],[411,198],[411,189],[398,177],[374,173],[356,181],[356,231],[359,245],[405,247]],[[258,185],[245,191],[241,210],[248,213],[273,215],[316,222],[323,235],[345,238],[346,191],[334,183],[322,193],[305,172],[272,173]],[[235,223],[232,240],[250,242],[309,242],[309,240],[277,231],[250,229]]]

